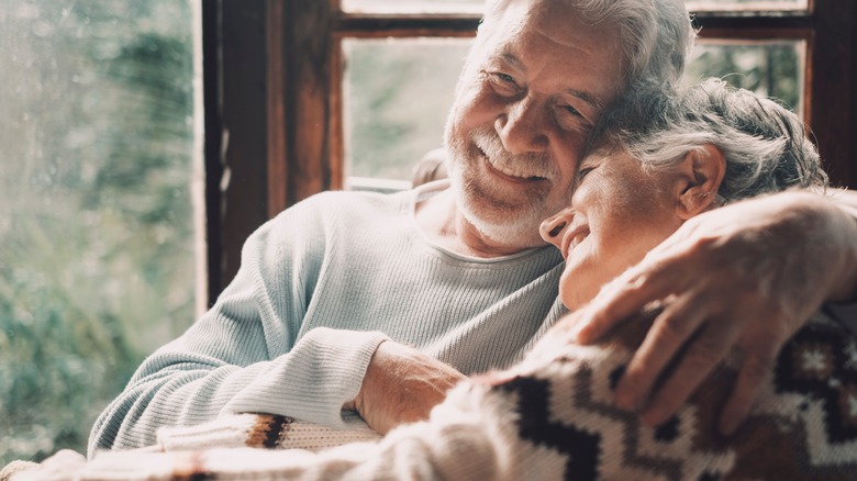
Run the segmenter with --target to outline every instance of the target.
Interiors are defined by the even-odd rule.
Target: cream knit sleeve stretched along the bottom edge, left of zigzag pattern
[[[549,449],[528,447],[517,436],[512,394],[487,384],[461,383],[431,420],[400,426],[379,441],[311,452],[301,449],[215,448],[169,452],[104,452],[86,466],[103,479],[174,479],[197,474],[235,479],[300,480],[517,480],[559,479],[565,467]],[[81,460],[47,472],[80,470]],[[535,469],[534,469],[535,468]],[[53,471],[52,471],[53,469]],[[34,471],[38,477],[41,471]],[[535,476],[534,476],[535,474]]]

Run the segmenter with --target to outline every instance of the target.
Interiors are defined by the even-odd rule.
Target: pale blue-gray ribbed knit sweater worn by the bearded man
[[[465,374],[522,359],[566,312],[563,258],[553,247],[471,258],[430,242],[415,205],[446,187],[325,192],[259,227],[214,306],[148,357],[99,416],[90,455],[148,446],[162,426],[221,414],[345,427],[342,405],[388,338]]]

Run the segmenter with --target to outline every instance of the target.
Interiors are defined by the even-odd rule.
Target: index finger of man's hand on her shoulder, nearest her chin
[[[678,277],[669,272],[668,266],[632,269],[610,282],[586,309],[572,332],[577,343],[594,343],[625,317],[677,290]]]

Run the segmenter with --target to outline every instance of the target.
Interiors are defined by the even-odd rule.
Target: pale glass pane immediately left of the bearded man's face
[[[416,160],[443,144],[446,115],[470,42],[344,42],[345,150],[352,177],[409,181]]]

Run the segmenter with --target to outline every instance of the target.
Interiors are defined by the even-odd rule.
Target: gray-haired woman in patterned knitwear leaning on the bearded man
[[[566,258],[559,293],[572,310],[694,215],[826,183],[803,125],[772,101],[710,80],[678,100],[628,104],[596,136],[569,209],[542,226]],[[660,309],[597,346],[576,345],[568,317],[523,362],[463,382],[429,421],[379,440],[318,452],[201,449],[318,448],[347,437],[281,416],[235,416],[163,432],[159,449],[167,452],[105,452],[81,479],[854,479],[857,340],[846,328],[819,313],[798,332],[748,421],[725,437],[716,420],[739,351],[666,423],[652,426],[613,403],[615,383]],[[63,460],[42,469],[52,465],[62,470]]]

